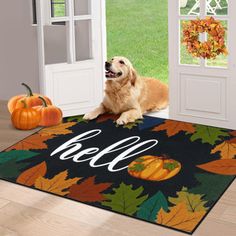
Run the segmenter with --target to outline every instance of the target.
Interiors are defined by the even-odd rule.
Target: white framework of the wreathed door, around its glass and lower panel
[[[191,123],[199,123],[204,125],[211,125],[211,126],[218,126],[218,127],[225,127],[236,129],[236,106],[233,108],[232,103],[233,101],[233,94],[236,91],[236,81],[233,78],[233,75],[236,75],[236,44],[233,43],[234,36],[236,37],[236,27],[234,27],[234,22],[236,22],[236,14],[234,13],[234,9],[236,9],[236,1],[229,0],[229,7],[228,7],[228,68],[212,68],[212,67],[204,67],[204,61],[201,60],[200,67],[195,66],[186,66],[180,65],[179,63],[179,45],[180,43],[180,32],[179,32],[179,0],[168,0],[168,20],[169,20],[169,88],[170,88],[170,119],[191,122]],[[201,13],[200,18],[205,18],[205,0],[200,0],[201,5]],[[178,9],[178,10],[176,10]],[[204,11],[204,14],[202,12]],[[182,18],[185,18],[184,16]],[[196,16],[188,16],[188,19],[196,19]],[[221,18],[222,20],[224,17],[216,17]],[[178,20],[177,20],[178,19]],[[178,42],[178,43],[177,43]],[[173,56],[174,55],[174,56]],[[217,117],[217,114],[209,115],[210,113],[202,113],[203,115],[199,114],[191,114],[183,112],[181,108],[181,86],[180,86],[180,76],[179,76],[179,68],[181,72],[184,74],[195,74],[196,76],[208,76],[212,78],[225,78],[225,99],[223,98],[221,102],[225,104],[225,116],[224,117]],[[184,98],[187,99],[186,97]],[[199,99],[201,96],[199,94]],[[183,100],[183,98],[182,98]],[[204,100],[202,100],[204,102]],[[215,117],[214,117],[215,116]]]

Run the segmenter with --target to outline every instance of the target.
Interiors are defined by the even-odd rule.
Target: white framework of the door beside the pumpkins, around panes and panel
[[[91,0],[92,1],[92,0]],[[68,5],[67,11],[69,12],[67,17],[54,17],[50,18],[45,22],[45,17],[48,18],[48,11],[45,10],[45,2],[49,7],[49,0],[36,0],[36,11],[37,11],[37,37],[38,37],[38,63],[39,63],[39,84],[40,84],[40,93],[49,96],[52,100],[56,99],[54,96],[55,83],[54,83],[54,74],[55,72],[69,72],[76,73],[77,70],[89,70],[92,69],[94,63],[94,78],[97,75],[98,79],[93,79],[94,87],[97,89],[94,90],[93,102],[79,103],[76,105],[74,112],[72,114],[73,105],[68,104],[68,107],[63,108],[64,116],[71,116],[76,114],[82,114],[89,112],[91,109],[94,109],[103,98],[104,90],[104,81],[105,81],[105,60],[106,60],[106,14],[105,14],[105,0],[96,0],[93,6],[93,11],[90,15],[75,16],[74,15],[74,1],[66,0]],[[96,11],[95,11],[96,8]],[[100,9],[99,9],[100,8]],[[50,11],[50,9],[49,9]],[[46,16],[45,16],[46,14]],[[50,14],[49,14],[50,15]],[[90,17],[90,18],[88,18]],[[92,27],[92,36],[91,36],[91,50],[93,51],[93,57],[91,59],[85,59],[83,61],[76,61],[75,58],[75,33],[74,33],[74,22],[78,20],[91,20]],[[58,64],[45,64],[45,51],[44,51],[44,25],[47,23],[57,22],[57,21],[67,21],[67,62],[58,63]],[[95,27],[97,26],[97,27]],[[98,29],[99,28],[99,29]],[[98,37],[99,34],[99,37]],[[99,68],[99,69],[98,69]],[[81,83],[81,82],[80,82]],[[91,92],[90,92],[91,94]],[[58,96],[57,96],[58,97]],[[91,98],[92,99],[92,98]],[[59,102],[58,102],[59,103]],[[56,102],[56,105],[61,105]],[[75,106],[75,105],[74,105]],[[79,108],[81,106],[81,108]]]

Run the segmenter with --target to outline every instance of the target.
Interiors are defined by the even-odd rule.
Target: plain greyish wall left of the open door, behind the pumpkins
[[[39,90],[36,28],[31,0],[1,0],[0,100],[21,94],[22,82]]]

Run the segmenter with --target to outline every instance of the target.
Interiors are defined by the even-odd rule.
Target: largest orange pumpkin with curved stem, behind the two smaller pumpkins
[[[7,107],[8,111],[11,114],[15,109],[24,107],[22,103],[23,100],[26,102],[26,105],[28,107],[42,105],[42,100],[38,98],[39,96],[41,96],[40,94],[32,93],[31,88],[27,84],[22,83],[21,85],[23,85],[26,88],[27,94],[14,96],[9,100]],[[51,100],[48,97],[44,96],[44,99],[46,100],[47,104],[49,105],[52,104]]]

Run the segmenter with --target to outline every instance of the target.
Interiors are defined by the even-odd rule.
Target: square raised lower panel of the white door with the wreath
[[[181,113],[226,119],[225,82],[226,78],[182,74]]]

